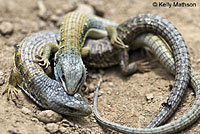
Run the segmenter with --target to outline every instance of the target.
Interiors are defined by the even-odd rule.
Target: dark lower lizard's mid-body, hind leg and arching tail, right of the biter
[[[152,32],[161,36],[171,47],[175,58],[176,75],[172,93],[166,103],[163,103],[163,109],[152,120],[148,127],[156,127],[164,123],[176,110],[181,102],[183,93],[187,87],[190,74],[189,54],[178,30],[167,20],[152,14],[138,15],[130,18],[120,24],[117,28],[118,36],[129,48],[135,49],[134,39],[144,32]],[[97,44],[98,45],[94,45]],[[129,63],[129,55],[126,50],[113,48],[106,40],[93,41],[91,45],[86,45],[90,48],[90,53],[84,59],[86,66],[93,67],[109,67],[111,65],[120,64],[121,69],[125,74],[130,72],[130,68],[141,68]],[[131,67],[130,67],[131,66]],[[124,69],[128,68],[128,69]],[[142,67],[143,68],[143,67]]]

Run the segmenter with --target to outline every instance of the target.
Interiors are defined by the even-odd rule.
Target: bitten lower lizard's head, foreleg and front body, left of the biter
[[[56,43],[57,36],[55,31],[39,32],[27,36],[17,45],[8,92],[16,95],[16,86],[20,86],[42,108],[64,115],[89,115],[91,108],[80,94],[68,95],[61,83],[48,77],[35,62],[36,55],[42,55],[45,44]]]

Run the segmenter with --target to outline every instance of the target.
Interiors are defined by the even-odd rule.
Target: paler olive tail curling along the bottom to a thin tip
[[[134,41],[135,47],[147,46],[151,49],[152,53],[158,58],[161,64],[172,74],[176,74],[175,61],[173,59],[170,49],[166,46],[165,42],[161,40],[158,36],[151,33],[142,34],[137,37]],[[100,82],[96,89],[96,94],[94,98],[94,114],[96,119],[108,128],[114,129],[122,133],[131,134],[171,134],[179,132],[192,123],[194,123],[200,117],[200,75],[191,70],[190,75],[190,86],[194,89],[196,98],[192,107],[177,120],[168,123],[166,125],[156,127],[156,128],[130,128],[127,126],[119,125],[117,123],[112,123],[104,120],[97,111],[97,101],[98,101],[98,90],[100,88]],[[152,123],[150,123],[151,125]],[[149,125],[149,126],[150,126]],[[154,126],[153,126],[154,127]]]

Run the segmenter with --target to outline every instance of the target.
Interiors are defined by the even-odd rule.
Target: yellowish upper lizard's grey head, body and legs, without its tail
[[[81,54],[86,56],[88,53],[88,48],[83,47],[86,37],[109,36],[117,46],[125,47],[116,36],[116,29],[106,29],[108,26],[117,25],[102,18],[72,12],[64,17],[59,31],[58,46],[51,44],[45,47],[43,59],[48,59],[52,50],[57,50],[54,59],[55,76],[68,94],[78,92],[86,79],[86,69],[81,59]]]

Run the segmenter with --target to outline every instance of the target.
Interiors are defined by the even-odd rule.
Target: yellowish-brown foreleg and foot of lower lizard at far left
[[[15,100],[18,98],[18,92],[19,89],[16,87],[19,86],[21,88],[23,78],[21,77],[20,72],[17,70],[16,67],[14,67],[11,71],[8,86],[3,92],[3,95],[7,93],[7,99],[8,100]]]

